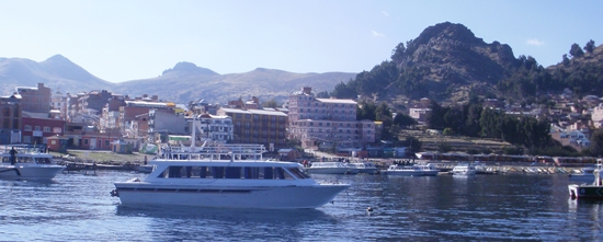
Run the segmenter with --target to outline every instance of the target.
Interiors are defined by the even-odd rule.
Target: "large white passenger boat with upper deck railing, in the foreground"
[[[350,184],[318,183],[294,162],[266,161],[261,145],[172,148],[146,178],[116,182],[123,205],[316,208]]]

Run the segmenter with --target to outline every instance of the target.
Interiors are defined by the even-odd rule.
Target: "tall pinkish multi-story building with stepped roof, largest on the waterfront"
[[[311,88],[303,88],[289,95],[288,137],[304,148],[363,148],[375,142],[375,123],[356,120],[356,108],[353,100],[317,99]]]

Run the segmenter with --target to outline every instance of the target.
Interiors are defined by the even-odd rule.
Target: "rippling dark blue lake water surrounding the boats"
[[[566,175],[314,175],[353,186],[310,210],[120,206],[134,176],[0,181],[0,241],[603,240],[603,203],[569,200]]]

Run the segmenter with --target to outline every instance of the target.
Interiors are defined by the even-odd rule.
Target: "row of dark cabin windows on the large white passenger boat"
[[[159,178],[257,178],[296,180],[309,178],[298,168],[246,168],[246,166],[168,166]]]

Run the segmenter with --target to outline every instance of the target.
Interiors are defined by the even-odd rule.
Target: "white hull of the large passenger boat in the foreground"
[[[123,205],[177,205],[225,208],[317,208],[350,185],[193,187],[115,183]]]

